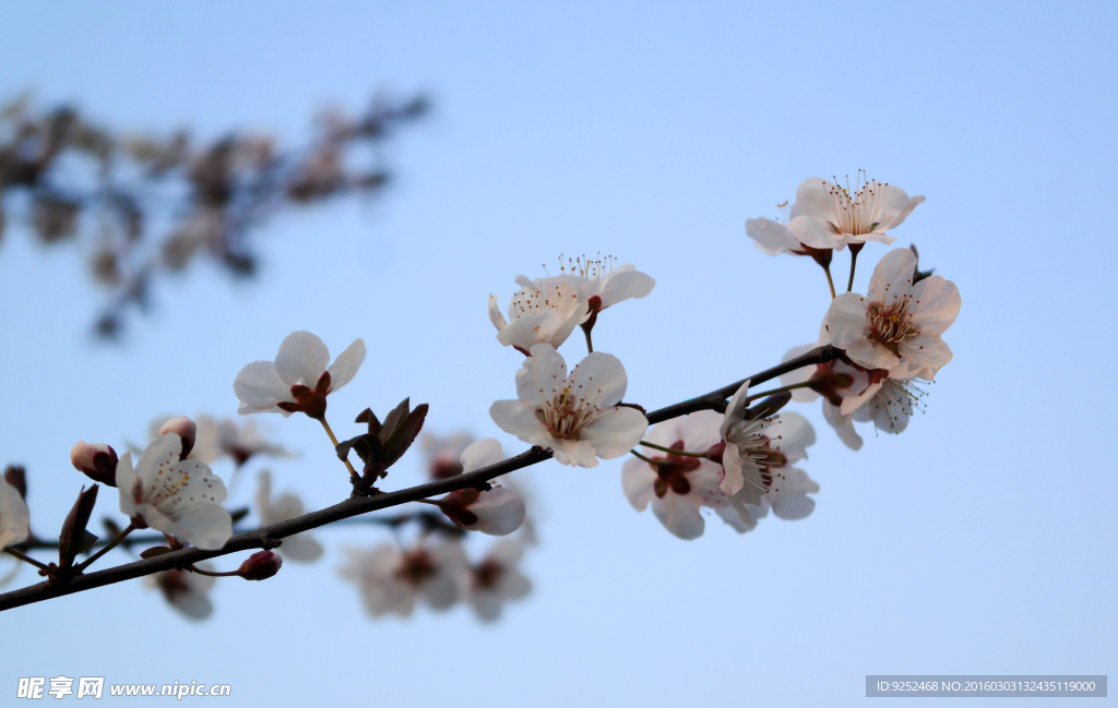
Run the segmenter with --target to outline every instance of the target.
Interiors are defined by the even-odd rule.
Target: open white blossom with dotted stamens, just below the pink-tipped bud
[[[233,519],[221,507],[221,478],[198,460],[180,461],[182,440],[160,436],[140,456],[116,463],[121,511],[129,518],[207,551],[217,551],[233,536]]]

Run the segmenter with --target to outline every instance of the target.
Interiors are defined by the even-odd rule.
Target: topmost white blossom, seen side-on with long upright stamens
[[[861,173],[859,174],[861,181]],[[870,180],[853,194],[822,178],[807,178],[796,190],[799,213],[788,222],[792,235],[813,248],[842,250],[847,243],[894,240],[899,227],[925,199],[911,199],[899,186]]]

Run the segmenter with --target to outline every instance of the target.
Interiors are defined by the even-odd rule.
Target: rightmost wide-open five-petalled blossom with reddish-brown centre
[[[831,303],[831,344],[845,350],[855,364],[903,366],[906,377],[931,380],[951,361],[940,335],[959,314],[959,291],[940,276],[913,285],[916,265],[912,251],[893,249],[873,269],[865,296],[843,293]]]

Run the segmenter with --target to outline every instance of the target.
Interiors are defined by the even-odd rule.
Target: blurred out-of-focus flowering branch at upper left
[[[45,245],[80,248],[105,291],[95,331],[113,338],[148,306],[152,279],[199,258],[249,278],[273,214],[379,193],[391,169],[378,147],[428,106],[416,94],[323,111],[309,143],[284,145],[252,128],[207,140],[106,126],[27,92],[0,108],[0,236],[26,224]]]

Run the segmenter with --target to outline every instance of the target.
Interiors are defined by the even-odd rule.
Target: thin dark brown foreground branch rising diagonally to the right
[[[785,362],[779,366],[767,369],[750,376],[749,379],[752,383],[764,383],[771,379],[776,379],[780,374],[794,371],[802,366],[833,361],[839,358],[841,355],[842,350],[837,350],[833,346],[817,347],[803,356]],[[719,403],[724,402],[728,396],[732,395],[741,383],[741,381],[731,383],[697,399],[691,399],[690,401],[683,401],[682,403],[675,403],[673,405],[652,411],[647,415],[648,422],[659,423],[686,413],[692,413],[694,411],[714,409]],[[239,551],[275,548],[280,546],[282,539],[287,536],[293,536],[305,530],[325,526],[326,524],[332,524],[341,519],[351,518],[361,514],[368,514],[369,511],[376,511],[378,509],[399,506],[401,504],[408,504],[409,501],[427,499],[429,497],[456,491],[458,489],[484,488],[485,482],[491,479],[502,475],[508,475],[509,472],[513,472],[524,467],[530,467],[550,458],[551,452],[539,447],[533,447],[527,452],[522,452],[515,457],[502,460],[496,465],[491,465],[490,467],[485,467],[473,472],[458,475],[456,477],[448,477],[446,479],[427,482],[426,485],[419,485],[408,489],[401,489],[399,491],[389,491],[371,497],[347,499],[341,504],[335,504],[334,506],[326,507],[325,509],[321,509],[319,511],[313,511],[280,524],[273,524],[272,526],[239,534],[230,538],[228,543],[225,544],[225,547],[219,551],[183,548],[181,551],[164,553],[143,561],[126,563],[124,565],[104,571],[79,575],[70,580],[68,583],[47,581],[37,585],[30,585],[28,587],[0,595],[0,611],[19,607],[35,602],[41,602],[44,600],[50,600],[53,597],[60,597],[63,595],[69,595],[72,593],[83,592],[86,590],[93,590],[94,587],[101,587],[103,585],[112,585],[113,583],[120,583],[122,581],[143,577],[144,575],[151,575],[153,573],[159,573],[160,571],[187,567],[208,558],[216,558],[218,556],[229,555]]]

